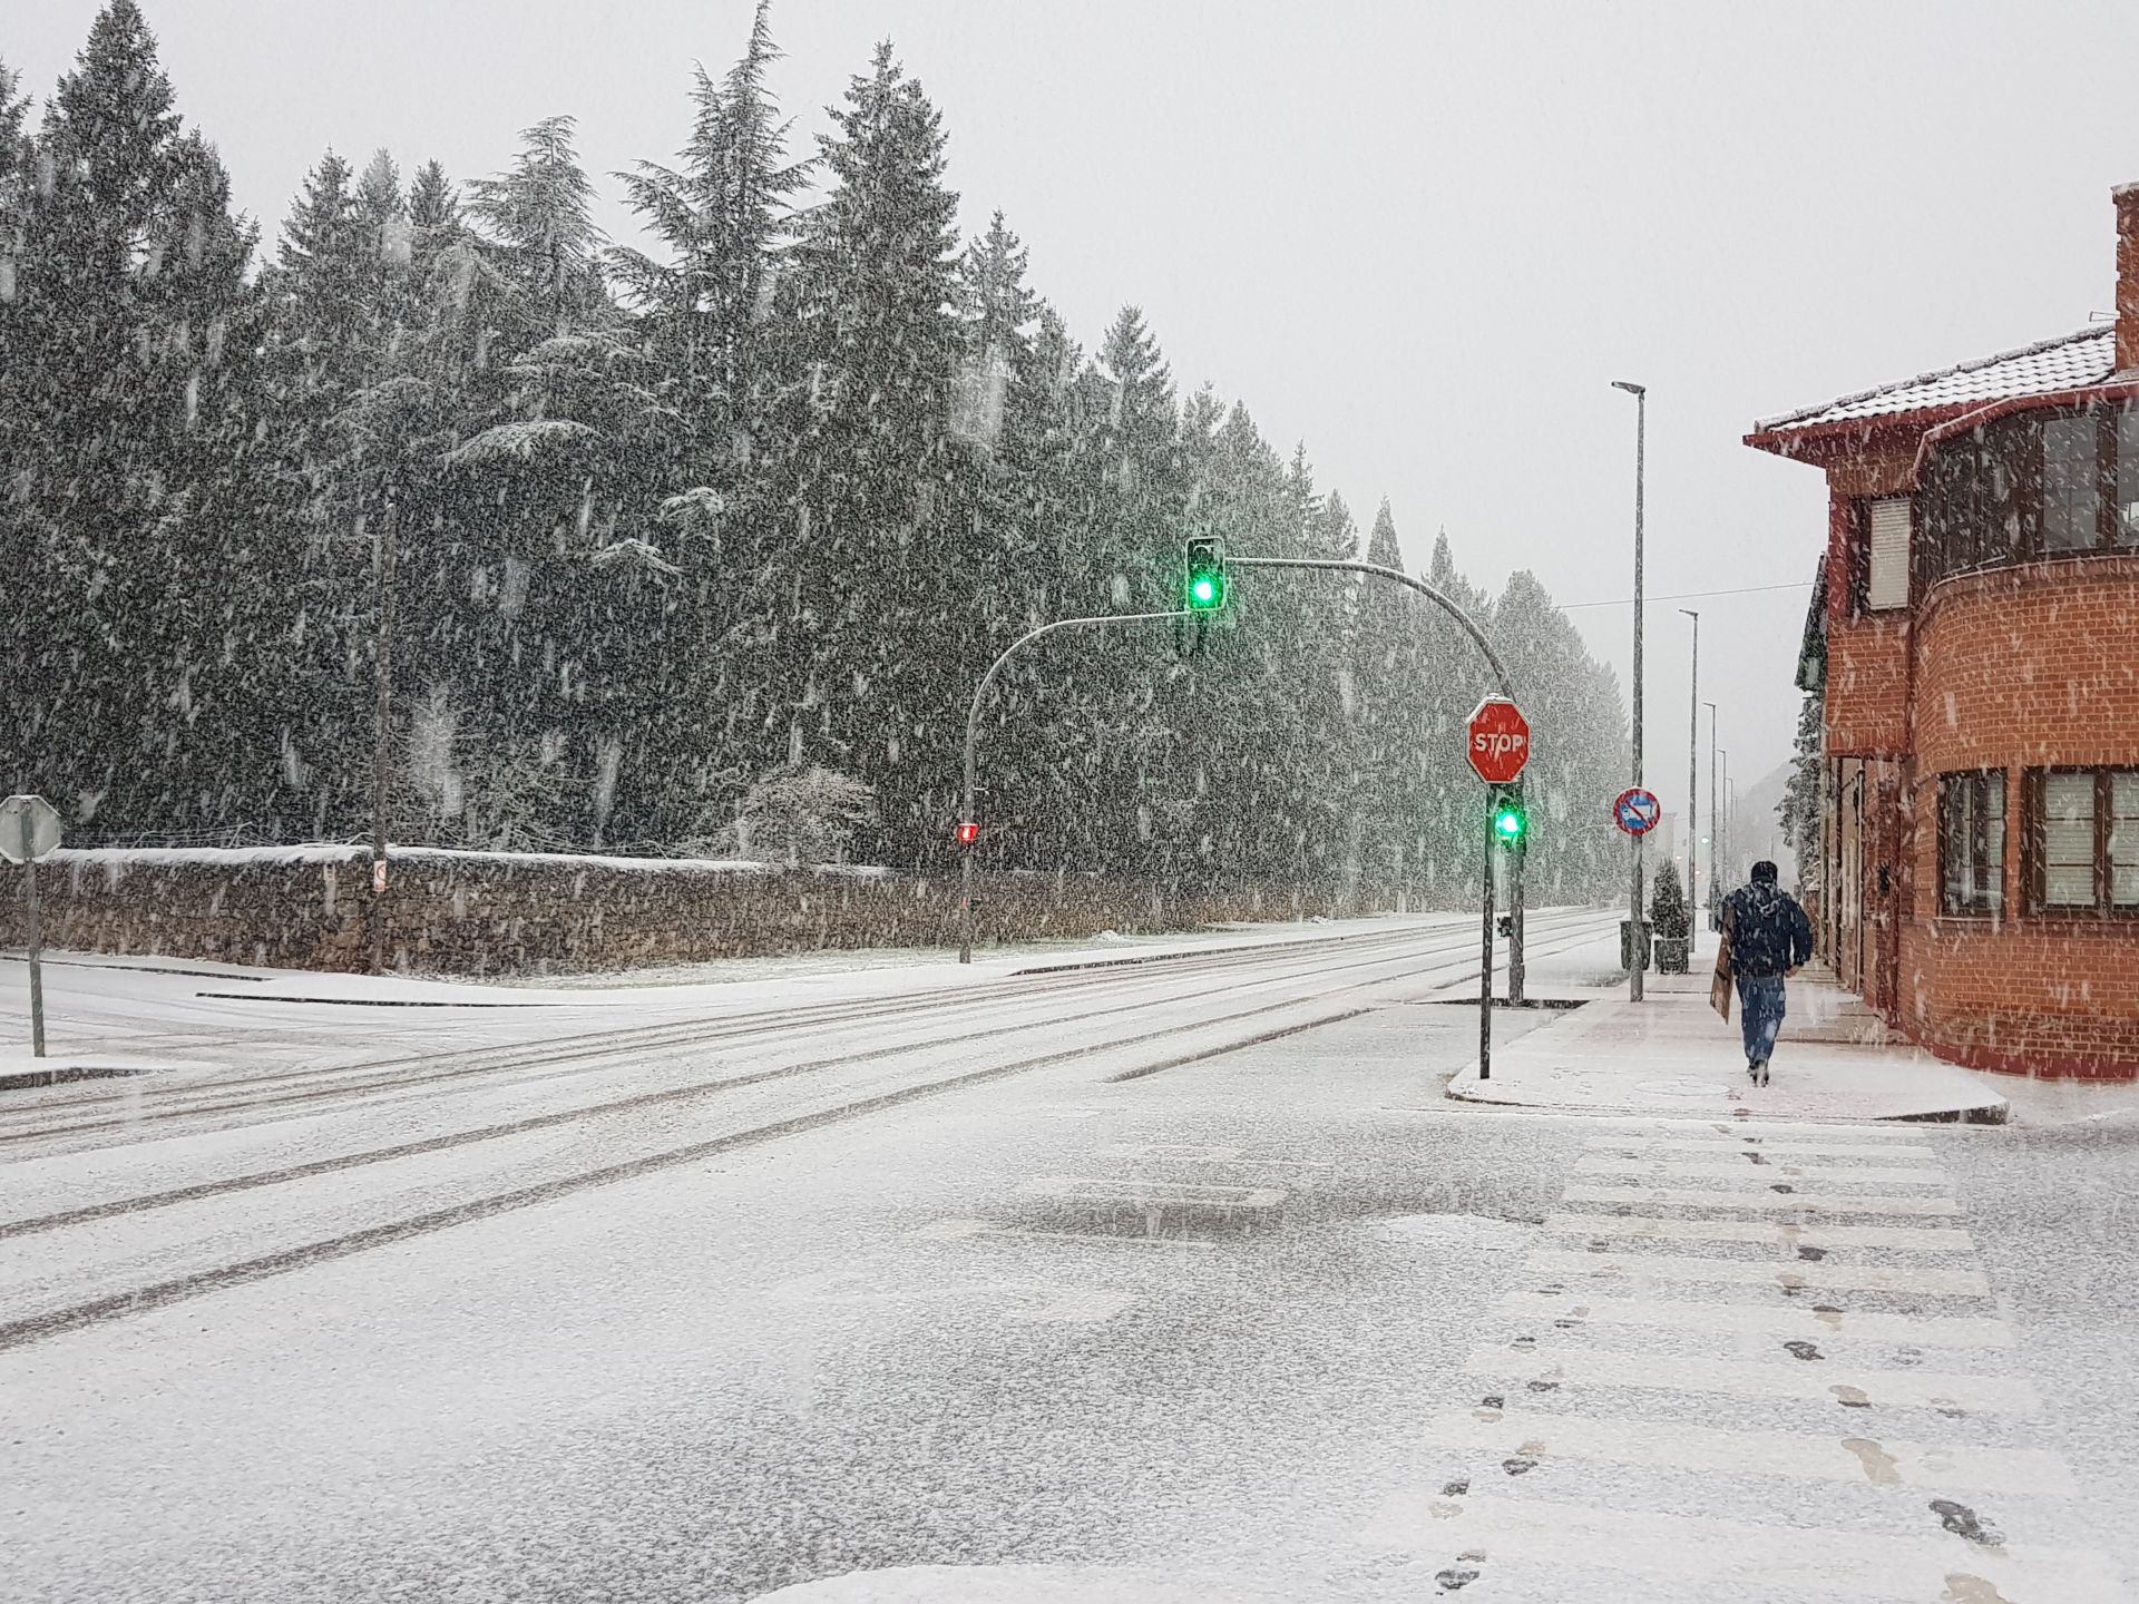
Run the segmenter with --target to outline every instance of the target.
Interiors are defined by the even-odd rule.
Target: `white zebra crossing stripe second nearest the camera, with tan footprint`
[[[1433,1448],[1542,1463],[1602,1459],[1724,1476],[1801,1476],[1869,1486],[2047,1497],[2073,1497],[2079,1491],[2064,1459],[2038,1448],[1936,1448],[1880,1439],[1867,1435],[1869,1422],[1865,1424],[1865,1433],[1855,1433],[1837,1420],[1831,1435],[1812,1437],[1546,1409],[1450,1409],[1427,1420],[1420,1439]]]

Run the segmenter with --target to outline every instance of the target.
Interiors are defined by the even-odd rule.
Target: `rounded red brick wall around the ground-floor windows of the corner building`
[[[2139,922],[2023,909],[2021,772],[2139,766],[2139,558],[2079,558],[1946,580],[1919,618],[1914,917],[1899,1024],[1989,1069],[2139,1076]],[[1940,917],[1938,776],[2006,772],[2011,917]]]

